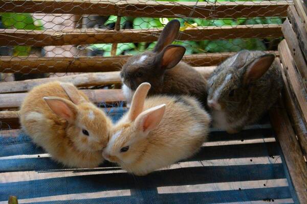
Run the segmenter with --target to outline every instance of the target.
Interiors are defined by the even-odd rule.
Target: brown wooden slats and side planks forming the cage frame
[[[200,27],[188,28],[182,32],[178,40],[205,40],[230,38],[264,38],[282,37],[283,40],[274,53],[280,62],[284,81],[283,98],[279,107],[270,112],[271,123],[280,143],[291,180],[301,203],[307,203],[307,17],[306,5],[300,0],[294,0],[294,5],[287,1],[260,2],[220,2],[218,7],[213,3],[200,2],[191,16],[193,2],[159,2],[143,0],[0,0],[0,12],[41,12],[69,13],[76,15],[116,15],[116,16],[150,16],[198,18],[213,15],[218,17],[257,17],[282,16],[288,18],[283,25],[238,25],[236,27]],[[289,5],[291,5],[289,7]],[[190,9],[188,9],[190,8]],[[205,10],[204,10],[205,8]],[[137,12],[131,12],[132,10]],[[213,10],[214,9],[214,10]],[[257,9],[258,12],[252,12]],[[288,12],[287,12],[288,9]],[[226,11],[226,12],[225,12]],[[205,13],[204,13],[205,12]],[[290,23],[291,22],[291,23]],[[80,45],[91,43],[113,43],[112,52],[116,51],[117,43],[150,42],[157,40],[162,29],[149,30],[120,30],[116,24],[115,30],[103,29],[71,29],[64,31],[24,31],[0,29],[1,45]],[[209,36],[209,37],[208,37]],[[2,39],[2,40],[1,40]],[[5,39],[5,41],[4,41]],[[25,41],[25,39],[27,39]],[[200,71],[204,77],[208,72],[233,53],[213,53],[188,55],[184,60]],[[49,81],[72,82],[76,86],[90,87],[93,85],[120,84],[119,64],[124,63],[128,56],[101,57],[0,57],[0,73],[42,73],[42,72],[86,72],[82,74],[59,77],[34,79],[20,82],[0,83],[0,121],[18,129],[18,112],[21,101],[32,87]],[[279,60],[280,58],[280,60]],[[91,67],[91,69],[89,69]],[[93,72],[93,73],[92,73]],[[86,80],[84,80],[86,79]],[[123,101],[119,89],[83,90],[86,95],[98,103],[105,101]],[[3,135],[14,134],[15,130],[2,131]]]

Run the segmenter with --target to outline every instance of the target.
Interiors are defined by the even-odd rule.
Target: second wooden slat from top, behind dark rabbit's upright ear
[[[157,41],[161,29],[73,29],[63,31],[30,31],[0,29],[0,45],[80,45],[94,43],[152,42]],[[232,38],[282,37],[281,25],[255,24],[223,27],[196,27],[181,32],[178,40],[215,40]]]

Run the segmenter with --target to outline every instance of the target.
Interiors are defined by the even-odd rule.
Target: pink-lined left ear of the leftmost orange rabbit
[[[75,121],[78,108],[71,101],[60,97],[43,97],[50,109],[69,123]]]

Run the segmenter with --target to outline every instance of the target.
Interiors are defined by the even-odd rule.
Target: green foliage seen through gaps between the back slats
[[[175,0],[177,2],[196,2],[196,0]],[[204,0],[201,0],[202,2]],[[214,0],[210,0],[214,2]],[[222,2],[224,0],[218,0]],[[231,2],[234,2],[230,0]],[[242,0],[237,0],[242,1]],[[244,0],[245,1],[245,0]],[[2,23],[6,28],[15,28],[23,30],[42,30],[43,26],[39,20],[34,20],[32,15],[29,13],[2,13]],[[172,18],[150,18],[150,17],[122,17],[121,18],[121,29],[127,22],[133,24],[133,29],[150,29],[150,28],[163,28],[165,23]],[[117,16],[109,16],[104,25],[109,25],[115,23]],[[223,27],[225,25],[243,25],[243,24],[281,24],[282,19],[277,17],[266,17],[266,18],[238,18],[238,19],[189,19],[182,18],[179,19],[181,26],[184,24],[193,24],[198,27],[206,26],[217,26]],[[266,39],[270,41],[272,39]],[[155,46],[156,42],[152,43],[119,43],[116,55],[135,55],[144,52],[146,49],[150,49]],[[216,52],[237,52],[240,49],[258,49],[266,50],[267,47],[262,39],[229,39],[229,40],[203,40],[203,41],[178,41],[174,44],[181,44],[186,47],[186,55],[197,54],[197,53],[216,53]],[[112,44],[92,44],[87,48],[90,50],[103,50],[103,56],[111,56]],[[15,56],[25,56],[30,53],[31,47],[29,46],[15,46],[14,55]]]

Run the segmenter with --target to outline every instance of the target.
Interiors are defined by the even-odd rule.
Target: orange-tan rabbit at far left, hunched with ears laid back
[[[93,168],[102,163],[112,121],[73,84],[34,87],[21,104],[21,128],[34,143],[65,166]]]

